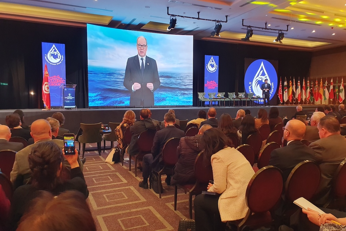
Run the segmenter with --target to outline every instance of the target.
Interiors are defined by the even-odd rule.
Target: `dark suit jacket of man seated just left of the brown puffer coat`
[[[154,157],[152,168],[154,170],[160,170],[160,167],[163,166],[162,149],[167,140],[173,137],[177,137],[180,139],[183,136],[185,136],[184,131],[171,125],[156,132],[152,147],[152,154]]]

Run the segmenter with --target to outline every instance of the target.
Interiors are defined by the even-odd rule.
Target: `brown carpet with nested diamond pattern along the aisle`
[[[177,230],[179,220],[189,217],[188,194],[178,189],[177,211],[174,211],[174,186],[165,184],[166,176],[162,177],[164,191],[160,199],[153,189],[138,186],[142,172],[137,169],[135,177],[134,168],[128,170],[128,161],[124,161],[124,166],[105,163],[109,151],[101,156],[97,151],[85,152],[83,174],[89,189],[87,201],[97,230]]]

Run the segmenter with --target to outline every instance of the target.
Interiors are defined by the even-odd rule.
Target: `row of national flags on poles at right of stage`
[[[320,102],[321,104],[329,104],[329,100],[339,101],[341,104],[345,99],[345,91],[344,91],[344,78],[341,79],[341,85],[339,89],[338,78],[336,79],[335,88],[333,88],[333,78],[330,80],[330,85],[328,88],[328,82],[326,80],[323,85],[322,78],[320,84],[318,85],[318,81],[316,79],[315,86],[313,85],[313,81],[308,79],[307,85],[305,85],[305,79],[302,81],[302,87],[300,86],[300,79],[298,79],[297,87],[295,86],[295,79],[293,78],[293,82],[290,78],[289,86],[287,85],[287,80],[285,77],[285,81],[282,89],[282,80],[280,79],[279,83],[279,91],[277,92],[277,96],[279,97],[280,103],[287,102],[287,100],[292,103],[300,103],[301,101],[304,103],[305,100],[307,102],[315,103]]]

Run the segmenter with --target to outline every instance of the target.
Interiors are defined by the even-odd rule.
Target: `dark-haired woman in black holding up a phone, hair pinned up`
[[[59,195],[66,190],[81,192],[86,199],[89,191],[78,163],[78,151],[74,155],[65,155],[58,145],[53,142],[39,143],[28,156],[31,180],[28,185],[18,187],[11,200],[11,223],[16,226],[23,213],[29,208],[32,199],[37,197],[39,190]],[[71,166],[71,179],[61,177],[63,161],[67,160]],[[61,211],[63,212],[63,211]]]

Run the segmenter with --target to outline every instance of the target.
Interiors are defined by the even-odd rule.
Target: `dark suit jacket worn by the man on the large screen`
[[[156,61],[148,56],[145,59],[145,68],[142,77],[140,70],[138,55],[129,57],[126,63],[124,87],[130,92],[130,106],[139,106],[140,101],[143,100],[143,105],[154,105],[154,91],[160,87],[160,78],[158,77]],[[132,85],[137,82],[141,88],[132,91]],[[147,83],[153,83],[153,91],[147,88]]]

